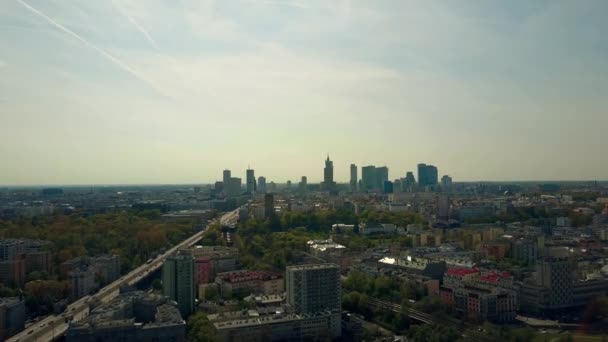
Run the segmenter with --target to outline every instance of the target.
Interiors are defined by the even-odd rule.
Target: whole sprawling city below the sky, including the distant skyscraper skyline
[[[601,334],[605,182],[4,188],[9,341],[535,340]],[[581,330],[581,329],[585,330]],[[578,334],[578,335],[577,335]],[[9,338],[9,336],[13,336]]]

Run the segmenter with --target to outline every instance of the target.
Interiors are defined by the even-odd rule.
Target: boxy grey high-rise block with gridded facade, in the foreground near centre
[[[340,313],[340,267],[335,264],[288,266],[286,270],[287,304],[296,312],[314,314],[323,311]]]

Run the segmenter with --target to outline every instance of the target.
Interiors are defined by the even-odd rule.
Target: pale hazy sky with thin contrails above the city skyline
[[[2,0],[0,184],[608,179],[608,1]]]

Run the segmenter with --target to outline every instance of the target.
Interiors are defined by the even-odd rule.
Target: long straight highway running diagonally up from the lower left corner
[[[238,218],[238,209],[225,213],[222,215],[219,221],[224,224],[228,222],[233,223],[235,222],[236,218]],[[215,222],[217,222],[217,220],[209,222],[209,225]],[[194,233],[192,236],[185,239],[178,245],[175,245],[171,249],[167,250],[165,253],[158,255],[155,259],[146,262],[128,274],[122,276],[120,279],[108,284],[96,294],[82,297],[68,305],[66,310],[60,315],[47,316],[44,319],[32,324],[19,334],[10,337],[8,341],[53,341],[57,337],[65,334],[65,332],[68,330],[70,321],[79,321],[87,317],[89,315],[89,305],[91,303],[98,301],[107,303],[116,298],[122,286],[136,284],[148,274],[161,268],[168,256],[175,253],[179,249],[193,246],[203,237],[209,225],[203,228],[201,231]]]

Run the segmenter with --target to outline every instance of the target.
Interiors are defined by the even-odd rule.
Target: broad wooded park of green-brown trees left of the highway
[[[0,220],[0,238],[29,238],[51,242],[56,265],[83,255],[116,254],[127,272],[169,244],[192,234],[193,223],[163,222],[158,210],[123,211],[83,216],[52,215]]]

